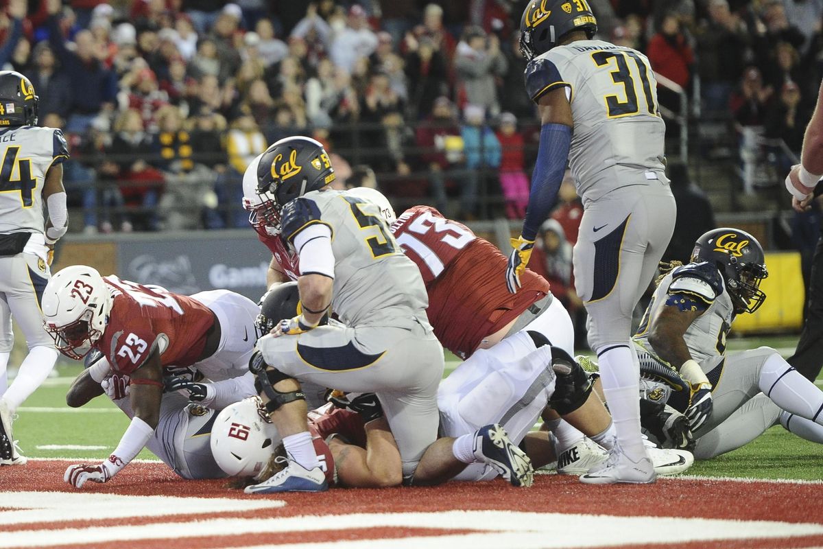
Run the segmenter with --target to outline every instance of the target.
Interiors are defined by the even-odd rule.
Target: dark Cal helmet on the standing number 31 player
[[[531,60],[554,48],[572,30],[591,40],[597,19],[586,0],[532,0],[520,19],[520,53]]]

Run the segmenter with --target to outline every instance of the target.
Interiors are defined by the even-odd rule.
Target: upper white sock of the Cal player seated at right
[[[758,385],[786,412],[823,425],[823,392],[788,365],[782,356],[774,354],[766,359]]]

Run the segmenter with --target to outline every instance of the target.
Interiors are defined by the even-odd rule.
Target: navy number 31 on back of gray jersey
[[[615,86],[622,85],[625,95],[625,101],[621,101],[618,95],[606,95],[606,109],[610,119],[616,119],[621,116],[631,116],[640,112],[637,95],[640,92],[637,88],[635,78],[631,76],[630,64],[627,58],[635,60],[637,65],[637,73],[640,83],[642,84],[642,93],[646,99],[646,111],[649,114],[657,114],[658,107],[654,103],[654,95],[652,94],[652,85],[649,82],[649,66],[642,58],[635,52],[594,52],[592,58],[597,67],[615,67],[616,70],[611,71],[611,81]]]

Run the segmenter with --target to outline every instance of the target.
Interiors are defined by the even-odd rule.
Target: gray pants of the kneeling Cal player
[[[444,360],[434,333],[416,320],[401,322],[404,328],[341,324],[296,336],[264,336],[257,348],[268,365],[300,383],[376,393],[408,478],[437,439]]]

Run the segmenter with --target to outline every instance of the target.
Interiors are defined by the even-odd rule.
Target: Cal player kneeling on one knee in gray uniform
[[[377,394],[402,466],[398,463],[388,477],[377,475],[361,454],[364,482],[395,485],[412,477],[417,483],[441,482],[452,476],[452,468],[479,460],[500,468],[515,486],[530,485],[528,458],[500,426],[434,444],[444,361],[425,316],[428,299],[420,272],[402,254],[374,204],[328,189],[335,176],[322,145],[309,137],[287,137],[255,159],[249,173],[256,174],[258,195],[257,205],[249,207],[280,226],[281,238],[299,259],[302,313],[261,337],[249,365],[260,372],[258,390],[283,435],[288,464],[247,491],[328,487],[306,426],[304,381]],[[330,306],[342,325],[319,326]],[[453,445],[458,450],[444,451]]]

